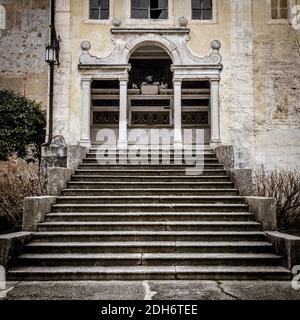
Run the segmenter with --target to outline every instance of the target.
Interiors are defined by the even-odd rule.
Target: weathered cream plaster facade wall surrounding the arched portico
[[[0,31],[0,83],[21,90],[26,77],[26,93],[45,101],[48,1],[24,3],[0,0],[8,12],[8,30]],[[55,135],[62,135],[68,145],[82,138],[83,76],[78,70],[82,41],[91,43],[93,56],[104,58],[114,51],[113,18],[120,20],[123,29],[166,29],[180,28],[178,19],[184,16],[190,29],[187,48],[194,56],[207,56],[212,40],[222,43],[221,143],[234,146],[235,166],[299,169],[300,32],[288,20],[270,20],[270,1],[215,0],[211,21],[191,20],[189,0],[169,0],[169,18],[163,21],[130,19],[129,0],[111,0],[110,4],[109,20],[91,21],[88,0],[57,1],[56,28],[62,50],[61,66],[55,73]],[[26,52],[19,53],[17,45],[23,44]]]

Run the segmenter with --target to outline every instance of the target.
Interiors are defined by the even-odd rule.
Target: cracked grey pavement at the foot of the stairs
[[[8,300],[300,300],[290,281],[9,282]]]

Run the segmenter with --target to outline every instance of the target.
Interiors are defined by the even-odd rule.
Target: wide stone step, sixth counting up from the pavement
[[[118,221],[254,221],[248,212],[136,212],[136,213],[50,213],[47,222],[118,222]]]

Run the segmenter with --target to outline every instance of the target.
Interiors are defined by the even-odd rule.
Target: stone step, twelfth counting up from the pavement
[[[81,169],[76,170],[77,176],[159,176],[159,177],[171,177],[171,176],[187,176],[186,170],[113,170],[113,169]],[[201,172],[201,176],[226,176],[224,169],[205,169]]]

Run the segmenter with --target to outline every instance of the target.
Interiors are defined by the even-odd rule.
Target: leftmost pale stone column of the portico
[[[82,79],[82,129],[80,144],[91,147],[91,79]]]

